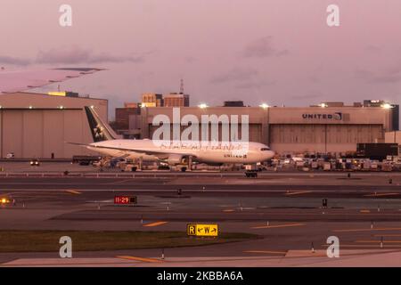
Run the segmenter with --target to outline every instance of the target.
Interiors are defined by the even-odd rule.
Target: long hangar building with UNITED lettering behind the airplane
[[[250,142],[266,143],[281,154],[356,151],[360,142],[384,142],[386,132],[398,130],[399,120],[398,106],[381,101],[352,106],[326,102],[310,107],[202,107],[181,108],[180,117],[194,115],[201,122],[202,115],[237,115],[241,121],[242,115],[248,115]],[[153,126],[153,118],[160,114],[173,122],[173,108],[142,108],[139,118],[130,118],[130,132],[152,138],[160,127]],[[180,126],[181,131],[186,127]],[[221,139],[221,123],[218,129]],[[241,124],[238,129],[241,137]]]

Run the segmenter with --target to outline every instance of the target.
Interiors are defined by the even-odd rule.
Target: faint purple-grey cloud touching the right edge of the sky
[[[401,82],[401,66],[385,69],[377,73],[367,69],[356,69],[355,75],[370,84],[394,84]]]

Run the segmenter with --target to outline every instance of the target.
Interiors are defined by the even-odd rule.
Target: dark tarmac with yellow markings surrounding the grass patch
[[[168,265],[248,265],[253,259],[266,266],[307,265],[310,256],[297,257],[297,262],[289,262],[295,259],[288,257],[299,251],[309,253],[311,245],[316,252],[324,252],[331,235],[339,237],[343,250],[359,250],[359,257],[353,260],[367,262],[362,256],[372,256],[369,250],[374,255],[378,250],[379,254],[401,250],[400,183],[401,175],[353,174],[348,178],[324,173],[269,173],[257,179],[181,174],[1,177],[0,194],[15,199],[16,205],[0,208],[0,230],[185,232],[188,223],[216,223],[222,232],[249,232],[259,238],[165,248],[166,256],[172,258]],[[113,199],[119,194],[135,195],[137,205],[115,206]],[[323,198],[328,199],[327,208],[322,207]],[[89,258],[89,265],[105,261],[119,266],[116,256],[160,258],[160,252],[161,248],[79,251],[74,257],[76,265],[83,260],[79,258]],[[51,262],[49,258],[58,258],[58,252],[0,253],[4,265],[24,265],[27,258],[31,262],[39,258],[37,264],[44,265]],[[319,260],[316,264],[325,264]],[[133,263],[125,261],[123,265]],[[145,262],[135,265],[157,266]]]

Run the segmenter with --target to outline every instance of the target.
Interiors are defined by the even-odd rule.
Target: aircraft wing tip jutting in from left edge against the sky
[[[102,69],[65,68],[36,70],[0,70],[0,94],[25,91],[70,78],[82,77]]]

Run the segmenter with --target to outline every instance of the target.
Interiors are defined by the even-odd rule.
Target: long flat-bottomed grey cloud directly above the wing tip
[[[90,49],[82,49],[77,46],[68,49],[51,49],[37,54],[37,63],[53,64],[77,64],[77,63],[120,63],[142,62],[142,56],[115,56],[110,53],[94,53]]]

